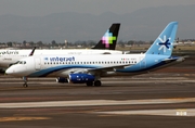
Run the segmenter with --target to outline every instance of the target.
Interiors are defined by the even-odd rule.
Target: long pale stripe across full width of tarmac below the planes
[[[100,105],[131,105],[131,104],[167,104],[195,102],[195,98],[183,99],[148,99],[148,100],[80,100],[80,101],[43,101],[0,103],[0,108],[27,108],[27,107],[56,107],[56,106],[100,106]]]

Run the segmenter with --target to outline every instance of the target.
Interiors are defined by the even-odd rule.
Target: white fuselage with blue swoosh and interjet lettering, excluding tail
[[[20,63],[12,65],[6,73],[28,77],[67,77],[75,73],[113,76],[145,68],[144,57],[145,54],[34,55],[20,60]],[[134,68],[129,68],[133,65],[135,65]]]

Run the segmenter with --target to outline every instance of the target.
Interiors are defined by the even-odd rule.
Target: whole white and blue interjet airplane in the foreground
[[[145,53],[91,55],[32,55],[20,60],[5,71],[12,76],[57,77],[57,82],[102,85],[101,77],[132,76],[184,61],[171,56],[178,22],[169,23]],[[27,79],[24,79],[27,87]]]

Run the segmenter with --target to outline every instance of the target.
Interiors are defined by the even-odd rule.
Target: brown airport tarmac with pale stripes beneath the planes
[[[0,126],[8,128],[194,127],[194,74],[104,78],[102,87],[54,78],[0,77]]]

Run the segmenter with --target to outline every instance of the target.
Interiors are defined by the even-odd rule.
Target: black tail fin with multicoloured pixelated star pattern
[[[118,31],[120,28],[119,23],[113,24],[109,29],[104,34],[99,43],[92,49],[108,49],[115,50],[118,38]]]

